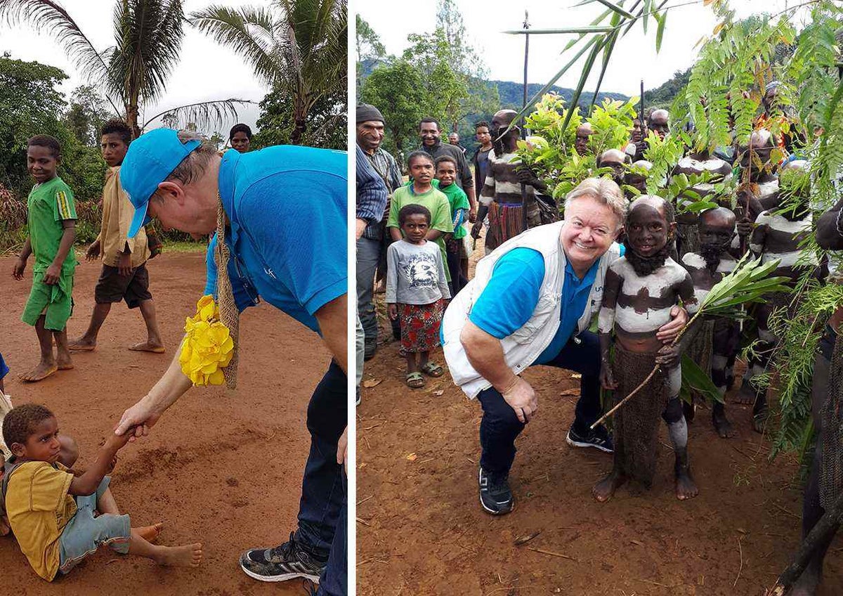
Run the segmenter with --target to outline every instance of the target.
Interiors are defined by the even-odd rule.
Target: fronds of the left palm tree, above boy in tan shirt
[[[115,45],[97,51],[67,10],[51,0],[0,0],[0,19],[26,22],[52,35],[83,77],[103,87],[115,112],[124,115],[135,136],[143,106],[159,99],[179,62],[183,24],[182,0],[117,0]],[[236,117],[242,99],[201,102],[167,110],[177,119],[201,123]],[[118,108],[122,105],[122,109]]]

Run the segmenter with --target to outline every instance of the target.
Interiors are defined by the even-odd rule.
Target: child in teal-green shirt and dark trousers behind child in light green
[[[439,191],[448,197],[448,204],[451,207],[454,234],[446,235],[445,251],[448,254],[448,271],[451,272],[451,296],[456,296],[459,290],[469,282],[469,254],[464,244],[465,235],[468,233],[463,227],[470,209],[469,197],[456,184],[457,160],[450,155],[437,158],[436,180],[439,182]]]

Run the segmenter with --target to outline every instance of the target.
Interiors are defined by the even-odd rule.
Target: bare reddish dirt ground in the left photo
[[[130,352],[145,339],[140,313],[115,304],[95,352],[74,354],[76,368],[37,384],[16,378],[35,365],[35,330],[20,322],[30,290],[11,277],[12,260],[0,259],[0,352],[12,369],[6,393],[56,412],[62,432],[77,439],[82,467],[120,419],[164,373],[196,312],[205,284],[204,255],[169,254],[149,264],[164,355]],[[68,332],[78,336],[94,305],[99,264],[77,269],[76,307]],[[100,550],[67,577],[48,584],[37,577],[12,537],[0,538],[0,592],[37,594],[245,594],[303,593],[300,580],[260,583],[240,571],[241,551],[277,545],[296,527],[302,471],[309,448],[307,403],[328,366],[328,352],[313,332],[266,304],[241,319],[239,388],[196,388],[158,421],[151,435],[119,454],[112,492],[132,525],[162,521],[159,543],[201,542],[198,569],[165,569],[137,557]]]

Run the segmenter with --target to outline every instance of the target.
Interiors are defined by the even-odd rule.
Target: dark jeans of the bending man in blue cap
[[[310,454],[304,464],[296,541],[319,559],[328,560],[319,594],[346,596],[346,474],[336,463],[336,446],[346,428],[346,373],[331,361],[308,405]]]

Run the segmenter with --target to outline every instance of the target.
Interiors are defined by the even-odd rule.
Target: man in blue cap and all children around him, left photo
[[[250,152],[252,133],[244,124],[231,130],[232,149],[224,153],[195,132],[160,128],[133,138],[132,129],[119,120],[106,122],[100,132],[109,169],[102,225],[85,255],[101,259],[102,271],[89,326],[71,341],[76,206],[72,189],[58,175],[59,142],[46,135],[28,142],[35,185],[28,200],[28,235],[13,277],[26,277],[32,257],[32,286],[21,319],[35,327],[40,362],[20,379],[34,383],[73,368],[71,352],[94,351],[111,304],[121,301],[140,311],[148,333],[146,341],[129,349],[165,352],[149,291],[147,261],[162,246],[153,217],[164,229],[210,239],[204,296],[196,315],[187,319],[169,368],[123,413],[86,470],[76,467],[72,429],[60,430],[52,411],[39,404],[13,407],[2,382],[8,366],[0,357],[2,534],[13,534],[33,570],[47,581],[106,545],[159,565],[199,566],[200,543],[158,545],[163,524],[132,523],[112,495],[110,472],[117,452],[146,436],[187,389],[223,382],[236,388],[239,313],[263,299],[319,334],[331,361],[308,407],[311,446],[298,528],[281,545],[246,550],[239,565],[260,581],[303,577],[309,593],[345,596],[347,267],[345,245],[329,238],[347,230],[346,153],[286,146]],[[300,217],[281,217],[284,213]]]

